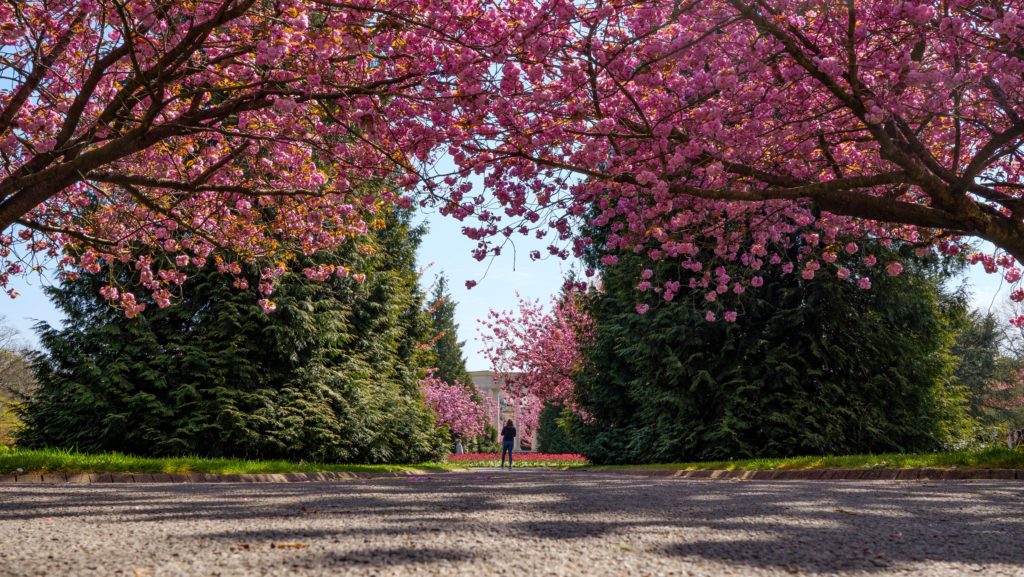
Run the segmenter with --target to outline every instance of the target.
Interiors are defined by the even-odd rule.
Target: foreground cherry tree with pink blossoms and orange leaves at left
[[[503,22],[433,0],[3,3],[0,288],[33,255],[122,260],[166,305],[216,258],[267,262],[269,294],[278,262],[411,203],[400,188],[441,141],[431,101]]]

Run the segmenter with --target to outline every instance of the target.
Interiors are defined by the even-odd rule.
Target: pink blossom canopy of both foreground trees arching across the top
[[[0,285],[18,251],[127,261],[166,305],[220,255],[260,262],[266,297],[278,259],[351,240],[407,194],[471,220],[478,257],[543,228],[550,252],[582,253],[589,215],[614,221],[609,249],[700,283],[718,265],[839,274],[840,239],[953,253],[971,237],[1017,282],[1022,23],[936,0],[4,5]]]

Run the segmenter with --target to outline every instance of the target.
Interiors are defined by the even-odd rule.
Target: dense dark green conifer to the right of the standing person
[[[892,256],[892,255],[890,255]],[[638,315],[640,270],[628,256],[592,299],[595,345],[577,423],[595,462],[928,451],[968,427],[953,384],[953,310],[935,266],[908,263],[860,290],[833,275],[765,273],[736,323],[709,323],[684,290]]]

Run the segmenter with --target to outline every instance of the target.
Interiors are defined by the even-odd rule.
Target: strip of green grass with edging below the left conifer
[[[18,468],[45,472],[427,472],[453,467],[439,463],[415,465],[353,465],[246,459],[205,459],[200,457],[144,458],[121,453],[83,454],[47,449],[28,451],[0,447],[0,475]]]

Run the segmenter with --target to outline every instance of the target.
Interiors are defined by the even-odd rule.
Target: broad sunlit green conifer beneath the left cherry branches
[[[375,254],[342,261],[366,283],[306,279],[297,263],[265,315],[213,266],[175,305],[129,320],[98,295],[104,274],[50,290],[67,328],[39,327],[41,388],[25,447],[325,462],[416,462],[443,439],[419,394],[426,319],[418,231],[391,216]],[[327,255],[322,255],[326,257]]]

